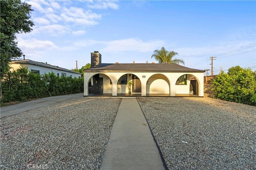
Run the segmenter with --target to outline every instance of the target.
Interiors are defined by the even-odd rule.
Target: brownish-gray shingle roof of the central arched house
[[[152,64],[152,63],[132,63],[132,64],[106,64],[99,67],[85,69],[85,72],[204,72],[188,68],[178,64]]]

